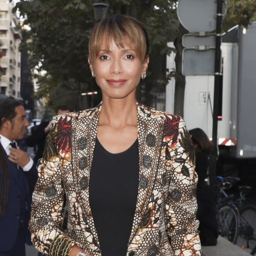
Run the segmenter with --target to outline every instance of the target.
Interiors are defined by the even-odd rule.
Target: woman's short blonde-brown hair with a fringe
[[[103,38],[107,49],[110,48],[112,40],[120,48],[124,48],[124,45],[132,46],[141,62],[148,55],[147,32],[142,23],[131,16],[114,15],[94,26],[89,40],[89,59],[92,63],[98,56]]]

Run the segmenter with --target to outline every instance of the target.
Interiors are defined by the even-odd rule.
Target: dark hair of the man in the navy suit
[[[0,129],[6,120],[16,116],[15,108],[23,106],[23,102],[14,98],[0,99]]]

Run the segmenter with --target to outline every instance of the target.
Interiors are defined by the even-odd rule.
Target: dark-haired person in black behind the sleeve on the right
[[[196,150],[196,172],[198,185],[196,198],[198,202],[197,218],[200,221],[201,245],[211,246],[217,244],[217,195],[212,187],[206,183],[208,177],[209,156],[213,150],[213,144],[201,128],[189,130],[190,138]]]

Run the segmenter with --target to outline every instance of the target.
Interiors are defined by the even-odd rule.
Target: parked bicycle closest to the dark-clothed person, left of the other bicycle
[[[236,244],[240,231],[240,214],[234,204],[233,195],[228,196],[226,189],[231,188],[240,179],[235,177],[216,177],[219,190],[217,204],[218,233],[231,243]]]

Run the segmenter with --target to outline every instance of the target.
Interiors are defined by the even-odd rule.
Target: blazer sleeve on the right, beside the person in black
[[[176,116],[177,117],[177,116]],[[176,120],[177,128],[167,144],[167,165],[170,167],[166,203],[167,235],[179,256],[201,255],[197,202],[195,152],[184,120]]]

